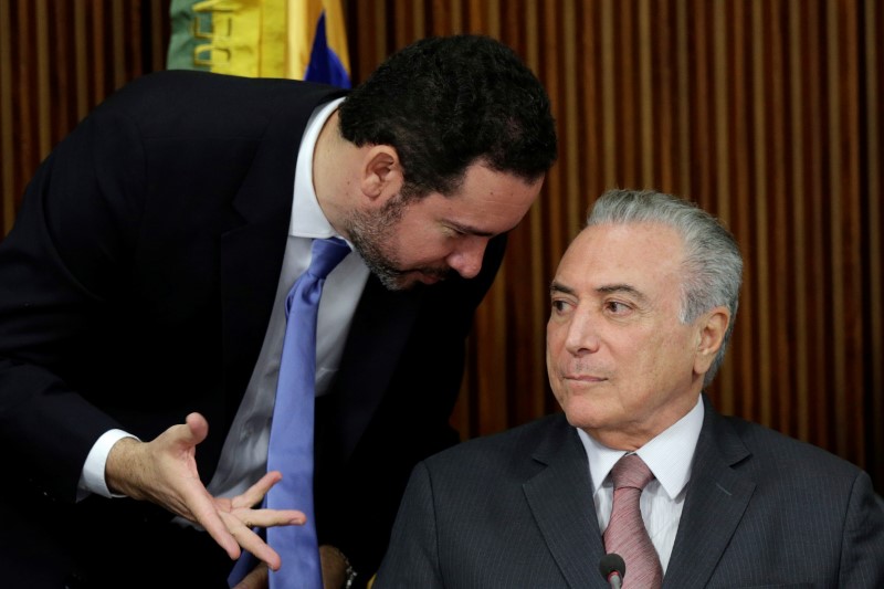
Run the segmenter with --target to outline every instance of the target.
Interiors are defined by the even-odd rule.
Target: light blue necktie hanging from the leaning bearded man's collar
[[[264,503],[270,509],[302,511],[307,523],[266,529],[267,544],[282,558],[282,568],[270,574],[271,589],[323,589],[313,506],[316,316],[326,276],[348,253],[349,246],[340,239],[314,240],[311,265],[285,299],[285,338],[267,450],[267,471],[282,472],[283,480]],[[243,553],[230,585],[255,564],[254,557]]]

